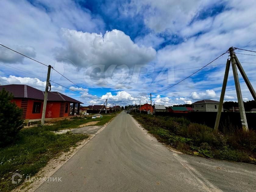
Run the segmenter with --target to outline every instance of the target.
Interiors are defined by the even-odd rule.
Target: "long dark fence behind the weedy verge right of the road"
[[[185,117],[194,123],[205,124],[214,128],[217,112],[190,112],[190,113],[172,113],[172,112],[156,112],[156,116],[172,116]],[[256,113],[246,113],[246,119],[249,129],[256,130]],[[241,118],[239,112],[222,112],[220,118],[219,129],[223,127],[241,127]]]

